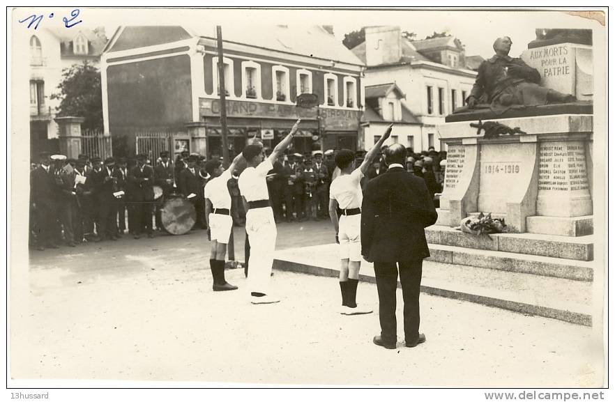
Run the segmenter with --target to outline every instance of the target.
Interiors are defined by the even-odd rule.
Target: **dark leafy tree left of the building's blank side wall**
[[[102,91],[100,71],[88,61],[74,64],[62,70],[59,93],[51,95],[59,99],[58,116],[77,116],[85,119],[82,127],[102,128]]]

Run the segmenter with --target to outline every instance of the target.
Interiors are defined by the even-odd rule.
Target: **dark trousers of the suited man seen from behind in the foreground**
[[[418,339],[420,314],[418,295],[423,275],[423,260],[400,261],[396,263],[374,262],[376,286],[380,304],[381,337],[387,343],[397,341],[397,320],[395,318],[397,290],[397,265],[404,296],[404,334],[407,343]]]

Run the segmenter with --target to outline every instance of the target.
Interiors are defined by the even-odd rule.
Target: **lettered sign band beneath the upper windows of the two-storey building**
[[[199,99],[201,116],[220,116],[219,99]],[[357,110],[321,108],[320,116],[325,130],[358,130]],[[316,119],[317,108],[303,109],[295,105],[280,105],[278,103],[262,103],[244,100],[227,100],[227,116],[254,118],[312,118]]]

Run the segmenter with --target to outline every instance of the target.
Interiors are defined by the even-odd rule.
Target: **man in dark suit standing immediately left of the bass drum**
[[[134,229],[130,229],[135,239],[141,237],[143,229],[149,238],[154,237],[151,229],[153,168],[145,164],[146,160],[146,155],[137,155],[137,165],[128,170],[128,203],[132,209],[132,223],[135,225]]]

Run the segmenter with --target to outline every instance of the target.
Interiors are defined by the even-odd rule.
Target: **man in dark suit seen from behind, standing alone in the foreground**
[[[406,346],[425,342],[419,334],[418,295],[423,258],[430,256],[425,228],[438,214],[425,181],[404,169],[406,148],[394,144],[384,154],[388,170],[367,183],[361,214],[361,254],[374,262],[380,304],[381,334],[374,343],[395,349],[395,291],[399,269],[404,295]]]

